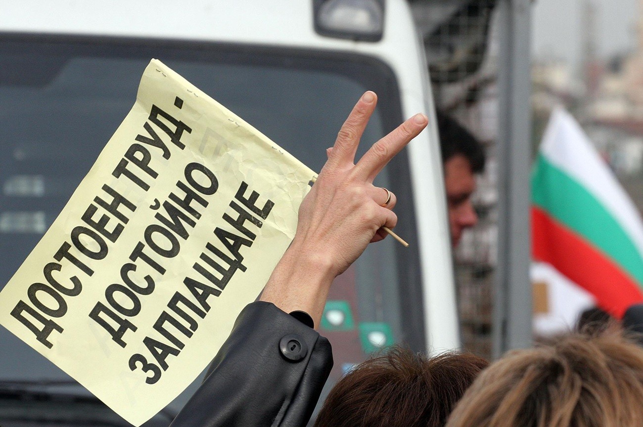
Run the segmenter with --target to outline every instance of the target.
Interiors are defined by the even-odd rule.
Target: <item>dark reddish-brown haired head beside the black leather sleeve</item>
[[[315,427],[442,427],[489,363],[466,353],[424,356],[392,347],[346,374],[323,404]]]

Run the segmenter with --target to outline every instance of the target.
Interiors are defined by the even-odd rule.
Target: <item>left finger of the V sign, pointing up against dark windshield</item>
[[[341,126],[334,146],[327,152],[327,164],[331,167],[352,166],[355,162],[355,153],[358,150],[359,139],[366,128],[370,115],[373,114],[377,104],[375,92],[367,91],[353,107],[344,124]]]

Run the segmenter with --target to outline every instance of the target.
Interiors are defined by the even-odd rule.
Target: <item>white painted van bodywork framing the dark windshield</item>
[[[0,36],[12,40],[23,36],[45,40],[78,36],[92,40],[127,39],[132,43],[145,39],[151,44],[154,40],[171,40],[174,46],[181,46],[181,42],[240,48],[263,46],[275,51],[294,49],[363,56],[386,64],[396,80],[403,118],[416,112],[425,112],[430,117],[427,130],[406,150],[417,227],[415,236],[403,238],[417,245],[421,301],[412,303],[422,307],[425,350],[454,349],[460,347],[460,337],[442,166],[426,61],[408,4],[403,0],[386,0],[384,4],[383,37],[377,42],[319,35],[314,30],[312,0],[6,1],[0,6]],[[131,94],[132,103],[134,95]],[[211,95],[217,99],[216,94]],[[5,122],[5,126],[11,124]],[[330,146],[332,141],[327,144]],[[4,148],[0,146],[0,150]],[[297,152],[292,153],[297,157]],[[403,222],[403,215],[399,216]]]

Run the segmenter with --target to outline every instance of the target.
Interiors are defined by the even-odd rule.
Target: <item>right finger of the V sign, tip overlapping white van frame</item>
[[[413,138],[422,132],[428,124],[428,118],[421,113],[407,119],[395,130],[390,132],[373,146],[359,159],[355,165],[358,178],[373,182],[379,171],[395,157]]]

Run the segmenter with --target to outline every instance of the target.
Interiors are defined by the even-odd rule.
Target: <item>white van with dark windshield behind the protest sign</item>
[[[379,103],[359,154],[404,118],[426,112],[428,130],[376,181],[397,195],[395,231],[410,247],[392,238],[371,245],[334,284],[321,326],[335,358],[327,388],[343,370],[394,342],[417,351],[460,345],[433,100],[403,0],[4,2],[0,287],[125,118],[150,58],[314,170],[367,89]],[[75,425],[127,425],[1,328],[0,360],[3,427],[65,417]],[[159,414],[146,425],[169,419]]]

